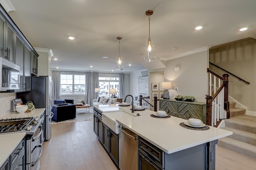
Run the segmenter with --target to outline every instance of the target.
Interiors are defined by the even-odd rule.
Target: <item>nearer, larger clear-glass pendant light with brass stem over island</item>
[[[146,15],[148,16],[148,41],[146,42],[146,48],[144,52],[144,60],[146,62],[152,62],[156,59],[153,42],[150,39],[150,16],[153,14],[152,10],[147,10]]]

